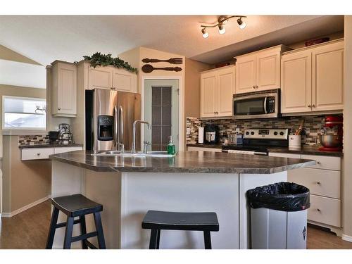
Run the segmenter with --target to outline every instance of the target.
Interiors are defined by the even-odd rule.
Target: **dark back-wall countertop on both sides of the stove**
[[[222,144],[187,144],[187,146],[196,146],[199,148],[215,148],[215,149],[221,149]],[[321,151],[319,150],[320,146],[309,146],[309,145],[303,145],[301,149],[289,149],[287,146],[278,146],[278,147],[272,147],[268,148],[269,152],[275,152],[275,153],[293,153],[293,154],[304,154],[304,155],[319,155],[319,156],[334,156],[334,157],[343,157],[344,152],[343,151]]]

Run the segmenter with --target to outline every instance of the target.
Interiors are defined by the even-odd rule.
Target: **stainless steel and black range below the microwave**
[[[279,146],[289,146],[288,129],[249,129],[244,130],[242,145],[223,145],[222,152],[268,155],[268,149]]]

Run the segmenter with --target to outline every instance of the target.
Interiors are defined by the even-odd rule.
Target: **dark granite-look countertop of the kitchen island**
[[[253,173],[271,174],[315,161],[298,158],[251,156],[222,152],[180,152],[174,158],[92,156],[91,151],[71,151],[49,156],[53,161],[68,163],[99,172],[182,172],[182,173]]]

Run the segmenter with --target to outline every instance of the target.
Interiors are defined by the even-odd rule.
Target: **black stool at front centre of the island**
[[[161,230],[203,231],[205,249],[211,249],[210,232],[219,231],[216,213],[175,213],[149,210],[142,221],[142,228],[151,230],[149,249],[159,249]]]

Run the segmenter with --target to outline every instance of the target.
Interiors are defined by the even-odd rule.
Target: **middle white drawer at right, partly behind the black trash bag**
[[[291,170],[289,180],[307,187],[310,194],[341,198],[341,172],[337,170]]]

